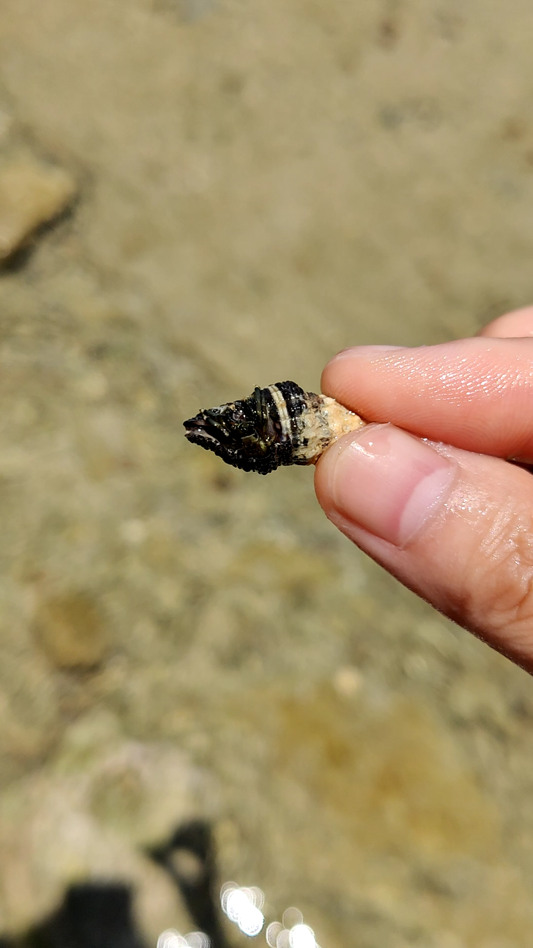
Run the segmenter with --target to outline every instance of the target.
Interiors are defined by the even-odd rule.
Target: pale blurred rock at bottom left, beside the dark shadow
[[[46,772],[0,793],[3,934],[42,919],[86,878],[133,885],[147,944],[171,925],[188,931],[174,884],[144,848],[191,819],[203,780],[175,748],[124,738],[108,712],[73,722]]]

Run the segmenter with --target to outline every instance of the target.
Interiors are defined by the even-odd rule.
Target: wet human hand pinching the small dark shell
[[[476,338],[348,349],[322,392],[376,423],[317,465],[329,520],[533,672],[533,476],[506,460],[533,465],[533,307]]]

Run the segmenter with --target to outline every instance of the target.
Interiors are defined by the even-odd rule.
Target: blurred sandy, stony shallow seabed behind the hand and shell
[[[1,930],[128,872],[186,926],[138,846],[203,815],[322,948],[531,944],[531,680],[181,422],[533,299],[532,35],[0,0]]]

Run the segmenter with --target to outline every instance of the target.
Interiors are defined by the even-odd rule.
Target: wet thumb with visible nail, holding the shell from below
[[[317,465],[327,517],[436,609],[533,671],[533,477],[392,425]]]

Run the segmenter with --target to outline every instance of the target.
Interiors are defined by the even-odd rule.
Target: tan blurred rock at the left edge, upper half
[[[0,261],[28,244],[35,231],[58,217],[76,194],[63,168],[17,155],[0,165]]]

